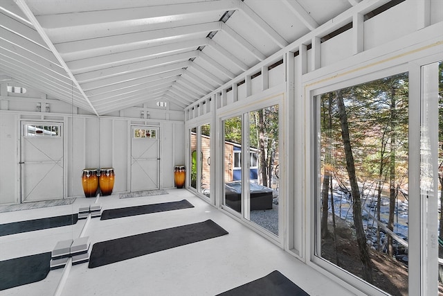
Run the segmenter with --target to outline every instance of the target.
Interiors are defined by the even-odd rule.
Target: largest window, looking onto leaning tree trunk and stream
[[[315,254],[408,295],[408,73],[317,100]]]

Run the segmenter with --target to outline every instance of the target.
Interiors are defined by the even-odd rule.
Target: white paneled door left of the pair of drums
[[[63,123],[21,121],[21,202],[63,198]]]

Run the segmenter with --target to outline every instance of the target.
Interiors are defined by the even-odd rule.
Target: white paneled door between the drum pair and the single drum
[[[159,189],[159,128],[132,127],[131,191]]]

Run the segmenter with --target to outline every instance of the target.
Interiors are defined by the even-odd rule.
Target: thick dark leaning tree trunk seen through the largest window
[[[354,219],[354,227],[356,232],[357,244],[359,245],[360,260],[362,264],[363,279],[372,284],[372,262],[366,245],[365,232],[363,230],[363,220],[361,217],[361,199],[359,184],[357,184],[355,175],[354,155],[352,155],[352,147],[349,135],[349,126],[347,124],[347,114],[345,104],[343,102],[343,94],[337,91],[338,113],[340,114],[341,137],[343,139],[343,147],[345,149],[346,169],[349,175],[352,193],[352,216]]]

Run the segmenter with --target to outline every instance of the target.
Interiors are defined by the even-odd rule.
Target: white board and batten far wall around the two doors
[[[46,96],[43,96],[46,100]],[[184,164],[185,160],[184,149],[181,149],[184,146],[183,112],[176,110],[166,114],[167,110],[158,110],[151,112],[151,119],[139,119],[133,117],[136,114],[140,116],[140,110],[134,108],[99,118],[92,114],[80,114],[82,110],[56,99],[48,100],[51,102],[50,112],[45,112],[44,107],[37,112],[35,106],[37,101],[41,101],[40,98],[42,94],[33,94],[32,90],[22,96],[1,92],[0,204],[17,204],[22,200],[19,164],[21,121],[63,123],[64,196],[60,198],[84,197],[81,182],[84,168],[114,168],[113,193],[131,191],[132,125],[159,128],[159,188],[174,187],[174,166]],[[42,172],[35,172],[39,173]]]

